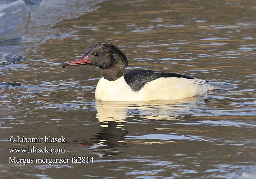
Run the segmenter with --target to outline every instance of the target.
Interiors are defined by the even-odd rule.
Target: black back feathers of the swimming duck
[[[130,86],[133,91],[140,91],[140,89],[148,82],[151,82],[161,77],[176,77],[176,78],[187,78],[195,79],[183,74],[177,73],[164,73],[153,70],[135,70],[124,74],[126,83]]]

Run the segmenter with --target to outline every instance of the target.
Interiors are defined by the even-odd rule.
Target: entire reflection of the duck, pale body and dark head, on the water
[[[129,129],[126,129],[125,122],[131,119],[146,120],[179,120],[183,112],[188,115],[190,110],[203,110],[205,104],[204,96],[196,96],[182,100],[171,101],[137,101],[137,102],[111,102],[96,100],[96,117],[100,122],[101,129],[94,137],[87,141],[73,141],[70,144],[75,146],[96,147],[101,149],[103,156],[117,155],[117,147],[124,147],[126,143],[136,144],[162,144],[176,142],[171,140],[127,140],[125,136]],[[191,115],[194,112],[191,112]],[[133,122],[136,122],[133,120]],[[138,121],[139,122],[139,121]],[[171,128],[155,128],[155,130],[172,131]],[[113,149],[113,150],[109,150]]]

